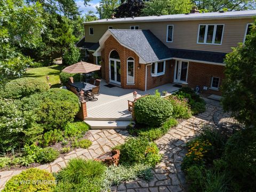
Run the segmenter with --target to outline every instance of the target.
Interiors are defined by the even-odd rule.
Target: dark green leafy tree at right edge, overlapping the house
[[[256,125],[256,22],[244,44],[226,55],[223,106],[245,125]]]

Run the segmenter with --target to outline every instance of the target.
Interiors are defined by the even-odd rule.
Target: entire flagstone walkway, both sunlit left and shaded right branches
[[[153,170],[153,180],[146,182],[139,179],[132,182],[124,182],[119,186],[111,187],[111,191],[185,191],[185,175],[181,171],[181,162],[187,153],[185,148],[186,142],[194,137],[195,133],[203,124],[214,125],[213,116],[217,111],[219,115],[221,107],[206,105],[206,111],[204,113],[183,121],[156,141],[160,153],[163,154],[163,158],[161,163]],[[58,172],[67,165],[69,159],[75,157],[85,159],[96,158],[109,151],[111,147],[124,143],[125,138],[129,136],[126,130],[90,130],[89,132],[91,133],[89,139],[92,141],[92,146],[88,149],[76,149],[64,157],[59,157],[52,163],[40,165],[37,168],[49,172]],[[7,180],[13,177],[13,175],[19,174],[21,171],[0,172],[0,190],[4,188]]]

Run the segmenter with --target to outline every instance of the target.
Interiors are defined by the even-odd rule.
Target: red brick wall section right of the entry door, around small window
[[[218,94],[221,95],[220,91],[209,89],[211,87],[212,77],[220,77],[220,83],[224,76],[224,66],[211,65],[205,63],[189,62],[188,66],[188,86],[195,88],[197,85],[200,86],[203,93]],[[203,86],[207,86],[208,90],[204,91]]]

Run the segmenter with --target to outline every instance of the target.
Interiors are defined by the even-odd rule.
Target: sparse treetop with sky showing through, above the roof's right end
[[[220,10],[227,11],[241,11],[255,9],[255,0],[202,0],[193,1],[199,10],[206,10],[207,12],[216,12]]]

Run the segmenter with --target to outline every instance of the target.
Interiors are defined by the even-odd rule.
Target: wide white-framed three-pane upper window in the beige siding
[[[223,24],[199,25],[197,43],[221,45],[223,31]]]

